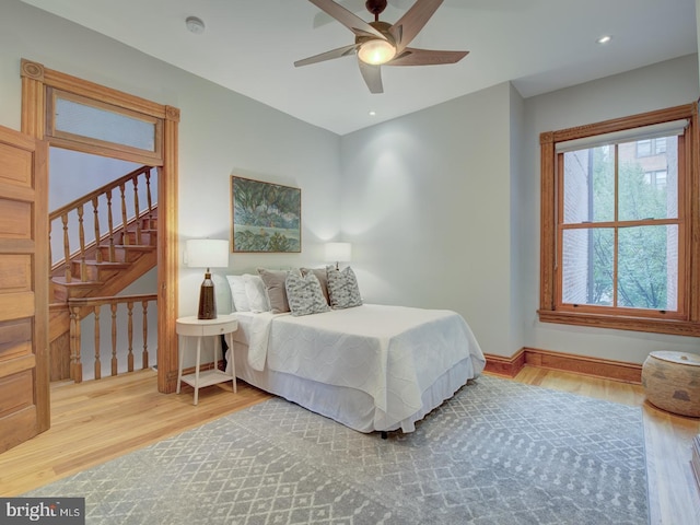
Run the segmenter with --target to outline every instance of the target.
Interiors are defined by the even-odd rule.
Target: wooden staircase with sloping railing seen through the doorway
[[[71,377],[70,301],[116,295],[156,265],[158,205],[151,194],[152,170],[135,170],[49,214],[49,236],[60,228],[63,252],[50,268],[51,381]],[[115,195],[117,206],[113,206]],[[86,208],[91,209],[89,220]],[[91,238],[85,241],[88,231]],[[79,315],[90,313],[85,306]]]

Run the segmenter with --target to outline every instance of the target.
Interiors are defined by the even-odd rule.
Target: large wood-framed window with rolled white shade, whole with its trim
[[[697,105],[542,133],[542,322],[700,335]]]

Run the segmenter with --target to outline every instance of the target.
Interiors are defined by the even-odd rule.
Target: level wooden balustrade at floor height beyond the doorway
[[[126,353],[127,371],[135,370],[133,353],[133,308],[135,305],[141,305],[141,369],[149,368],[149,306],[158,306],[158,294],[141,295],[122,295],[115,298],[84,298],[70,299],[68,307],[70,310],[70,377],[75,383],[83,381],[82,364],[82,320],[93,314],[94,315],[94,378],[102,378],[102,322],[101,313],[103,306],[108,306],[110,313],[110,331],[112,331],[112,351],[110,351],[110,375],[119,373],[119,355]],[[120,304],[126,305],[127,329],[126,346],[119,345],[118,335],[124,334],[124,329],[119,330],[119,316],[117,315]],[[137,312],[138,313],[138,312]],[[156,332],[156,331],[154,331]]]

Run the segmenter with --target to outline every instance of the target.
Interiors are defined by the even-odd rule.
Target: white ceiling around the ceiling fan
[[[373,95],[354,57],[293,67],[354,38],[306,0],[23,1],[338,135],[505,81],[529,97],[698,50],[695,0],[444,0],[411,46],[470,54],[384,67]],[[413,3],[388,1],[389,23]],[[372,20],[364,0],[338,3]]]

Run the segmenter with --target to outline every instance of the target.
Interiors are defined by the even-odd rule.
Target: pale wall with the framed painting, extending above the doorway
[[[323,261],[339,231],[339,138],[79,25],[3,0],[0,125],[20,129],[20,60],[180,109],[179,240],[229,238],[230,175],[302,188],[302,254],[233,255],[228,271]],[[179,311],[197,310],[200,270],[180,267]],[[229,308],[220,305],[220,311]]]

